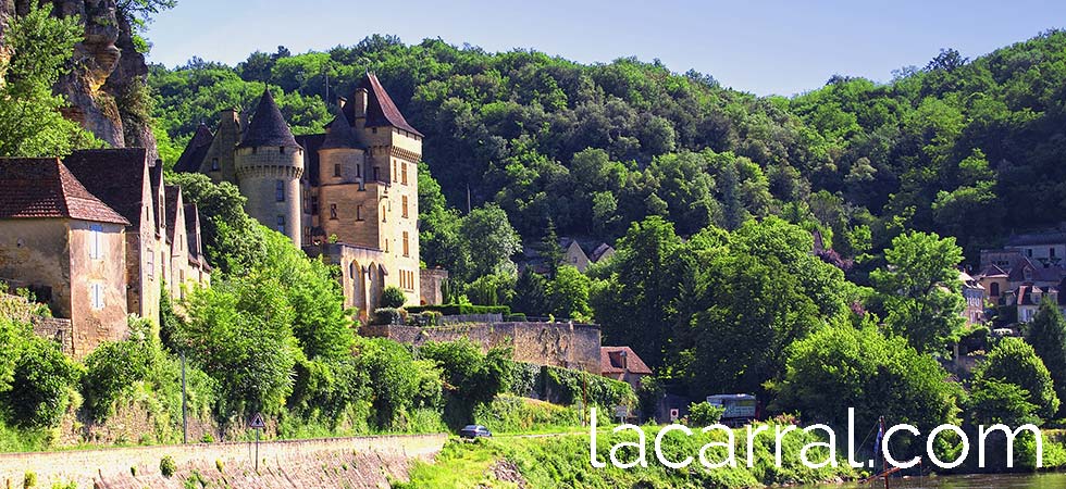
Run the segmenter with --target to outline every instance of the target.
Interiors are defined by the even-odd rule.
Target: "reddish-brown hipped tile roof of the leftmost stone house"
[[[128,225],[58,158],[0,159],[0,218],[67,217]]]

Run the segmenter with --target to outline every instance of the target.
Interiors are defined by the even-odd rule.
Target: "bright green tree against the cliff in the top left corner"
[[[65,156],[96,146],[95,138],[60,113],[67,104],[52,93],[70,71],[74,45],[82,40],[78,18],[50,15],[51,3],[30,1],[3,33],[10,58],[0,58],[0,155]]]

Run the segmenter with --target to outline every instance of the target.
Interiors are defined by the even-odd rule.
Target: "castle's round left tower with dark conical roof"
[[[240,193],[248,199],[248,215],[300,247],[303,148],[293,137],[269,89],[259,99],[234,152],[234,171]]]

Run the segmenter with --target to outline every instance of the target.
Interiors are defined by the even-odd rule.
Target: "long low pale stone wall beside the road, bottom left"
[[[0,481],[22,487],[25,474],[36,487],[77,482],[80,488],[182,488],[194,473],[209,487],[387,487],[407,478],[412,460],[430,460],[445,435],[330,438],[255,442],[70,450],[0,454]],[[172,477],[160,473],[164,456],[174,460]],[[197,485],[199,487],[199,485]]]

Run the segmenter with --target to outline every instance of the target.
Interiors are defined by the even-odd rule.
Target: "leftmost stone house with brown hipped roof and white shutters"
[[[129,225],[59,159],[0,159],[0,277],[71,319],[75,356],[127,334]]]

